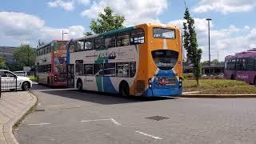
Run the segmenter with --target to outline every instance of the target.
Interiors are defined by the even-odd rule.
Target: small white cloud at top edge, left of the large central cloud
[[[82,0],[81,0],[82,1]],[[74,2],[73,1],[62,1],[55,0],[52,2],[48,2],[48,6],[50,7],[62,7],[64,10],[74,10]]]

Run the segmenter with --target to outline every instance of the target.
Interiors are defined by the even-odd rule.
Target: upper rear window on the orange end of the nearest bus
[[[154,27],[153,34],[154,34],[154,38],[167,38],[167,39],[175,38],[175,30],[174,29]]]

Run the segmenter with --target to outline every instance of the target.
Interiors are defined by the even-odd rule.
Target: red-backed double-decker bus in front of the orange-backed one
[[[66,86],[66,43],[53,40],[36,50],[35,76],[39,84]]]

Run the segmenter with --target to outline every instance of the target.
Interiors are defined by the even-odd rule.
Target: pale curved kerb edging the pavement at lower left
[[[13,134],[13,126],[18,123],[24,116],[29,112],[31,109],[33,109],[34,106],[36,106],[38,102],[38,98],[34,96],[34,94],[28,92],[32,98],[32,101],[21,110],[19,114],[15,114],[13,118],[10,118],[8,122],[6,122],[3,126],[3,135],[6,138],[6,142],[8,144],[18,144],[18,141],[14,137]]]

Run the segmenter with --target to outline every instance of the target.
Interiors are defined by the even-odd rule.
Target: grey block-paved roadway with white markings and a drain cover
[[[146,100],[34,86],[20,144],[256,143],[256,98]]]

